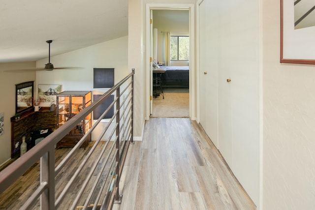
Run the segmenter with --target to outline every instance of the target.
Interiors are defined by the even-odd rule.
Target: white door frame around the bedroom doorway
[[[195,71],[195,11],[194,4],[170,4],[170,3],[147,3],[146,4],[146,16],[145,16],[145,86],[146,86],[146,120],[150,119],[151,112],[151,99],[152,99],[152,87],[150,80],[152,78],[152,69],[150,62],[150,13],[151,10],[164,9],[164,10],[189,10],[189,118],[196,120],[196,71]],[[151,96],[151,97],[150,97]]]

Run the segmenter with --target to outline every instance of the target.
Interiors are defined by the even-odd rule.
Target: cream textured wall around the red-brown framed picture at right
[[[263,209],[314,209],[315,66],[279,62],[280,3],[262,9]]]

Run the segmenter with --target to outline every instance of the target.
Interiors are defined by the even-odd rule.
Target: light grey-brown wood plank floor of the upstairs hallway
[[[195,121],[152,118],[130,145],[114,210],[254,210]]]

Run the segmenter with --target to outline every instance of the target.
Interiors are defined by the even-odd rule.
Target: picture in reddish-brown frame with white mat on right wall
[[[280,0],[280,4],[280,62],[315,64],[314,0]]]

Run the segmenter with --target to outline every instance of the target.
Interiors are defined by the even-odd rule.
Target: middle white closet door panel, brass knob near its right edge
[[[216,20],[220,23],[220,26],[217,26],[218,32],[218,113],[219,113],[219,147],[221,154],[223,155],[225,161],[230,168],[232,165],[232,104],[231,104],[231,88],[233,85],[233,78],[231,77],[232,73],[232,53],[231,53],[231,7],[229,0],[221,0],[220,6],[218,6],[217,11],[220,11],[221,14],[218,14]],[[224,14],[224,15],[222,15]],[[231,81],[229,81],[231,80]]]

